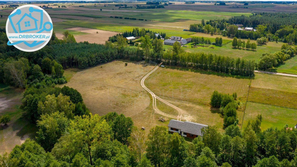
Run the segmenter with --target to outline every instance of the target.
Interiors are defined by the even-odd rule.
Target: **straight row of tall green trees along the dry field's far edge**
[[[252,76],[256,65],[253,60],[234,59],[228,56],[218,56],[203,52],[184,52],[178,42],[173,44],[172,51],[167,51],[163,54],[162,62],[173,66],[193,67],[241,76]]]

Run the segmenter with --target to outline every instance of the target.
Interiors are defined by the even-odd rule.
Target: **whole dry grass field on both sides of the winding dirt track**
[[[128,62],[124,66],[124,62],[114,61],[82,71],[66,70],[65,75],[71,78],[66,85],[82,94],[93,114],[103,115],[116,111],[130,116],[138,127],[166,126],[168,121],[157,120],[162,115],[153,111],[151,96],[140,85],[140,80],[154,66],[135,62]],[[162,99],[187,111],[194,118],[193,121],[216,125],[223,131],[221,114],[209,105],[211,93],[214,90],[237,92],[238,98],[245,101],[249,81],[249,78],[230,77],[221,73],[158,68],[145,80],[145,84]],[[176,110],[159,100],[157,107],[173,116],[169,119],[178,116]],[[244,110],[244,106],[241,110]],[[238,117],[243,119],[242,111],[238,111]]]

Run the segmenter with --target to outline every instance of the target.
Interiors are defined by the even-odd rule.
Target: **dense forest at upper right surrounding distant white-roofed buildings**
[[[254,13],[250,16],[233,16],[226,19],[204,21],[191,24],[190,31],[222,34],[228,37],[250,38],[257,40],[266,37],[270,41],[282,41],[297,44],[297,14],[296,13]],[[242,31],[233,24],[252,27],[256,31]]]

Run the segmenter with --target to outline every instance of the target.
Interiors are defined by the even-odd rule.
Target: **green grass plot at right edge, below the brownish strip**
[[[243,127],[249,120],[255,119],[258,114],[262,114],[263,116],[263,121],[261,123],[262,130],[266,130],[269,127],[277,127],[281,129],[285,124],[294,128],[297,123],[296,109],[248,102],[244,115]]]

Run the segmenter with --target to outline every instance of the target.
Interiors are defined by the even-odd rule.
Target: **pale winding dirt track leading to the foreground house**
[[[141,86],[142,86],[146,91],[148,91],[148,92],[151,94],[152,98],[153,98],[153,109],[154,109],[154,111],[155,111],[156,113],[161,114],[161,115],[164,115],[164,116],[166,116],[166,117],[171,117],[171,118],[175,118],[175,117],[176,117],[177,120],[181,120],[181,119],[184,119],[184,120],[186,120],[186,121],[191,121],[191,120],[193,120],[192,116],[189,116],[189,114],[188,114],[186,111],[184,111],[184,110],[182,110],[181,108],[178,108],[178,107],[176,107],[175,105],[172,105],[172,104],[168,103],[167,101],[161,99],[160,97],[158,97],[156,94],[154,94],[151,90],[149,90],[149,89],[144,85],[144,80],[145,80],[151,73],[153,73],[154,71],[156,71],[156,70],[159,68],[159,66],[160,66],[161,64],[162,64],[162,63],[160,63],[159,65],[157,65],[157,67],[154,68],[154,70],[151,70],[151,72],[149,72],[146,76],[144,76],[144,77],[141,79],[141,82],[140,82]],[[169,105],[170,107],[174,108],[174,109],[178,112],[178,116],[174,116],[174,115],[166,114],[166,113],[160,111],[160,110],[157,108],[157,103],[156,103],[157,99],[160,100],[161,102],[163,102],[163,103]]]

